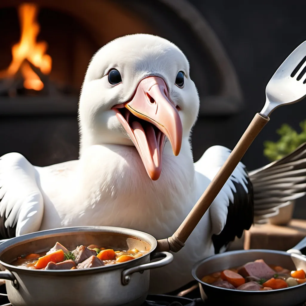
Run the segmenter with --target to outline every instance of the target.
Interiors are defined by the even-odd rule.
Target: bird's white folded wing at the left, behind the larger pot
[[[0,238],[39,230],[43,197],[35,168],[19,153],[0,157]]]

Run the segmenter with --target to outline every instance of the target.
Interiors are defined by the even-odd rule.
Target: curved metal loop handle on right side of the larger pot
[[[121,274],[121,283],[122,285],[128,285],[131,280],[131,275],[135,272],[142,273],[145,270],[155,269],[159,267],[166,266],[167,264],[173,261],[173,255],[169,252],[156,252],[151,255],[151,259],[160,258],[161,260],[154,261],[152,263],[144,263],[143,265],[132,267],[122,271]],[[0,275],[1,276],[1,275]]]

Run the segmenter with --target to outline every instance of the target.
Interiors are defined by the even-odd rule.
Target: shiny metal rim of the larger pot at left
[[[13,266],[9,263],[5,263],[2,260],[0,260],[0,264],[9,269],[9,271],[14,271],[14,272],[22,272],[22,273],[36,273],[39,275],[39,273],[49,273],[53,275],[61,275],[65,274],[67,275],[67,272],[69,271],[70,273],[75,273],[75,274],[90,274],[94,272],[99,272],[99,271],[109,271],[109,270],[116,270],[116,269],[121,269],[125,268],[131,265],[131,263],[134,263],[136,260],[139,260],[141,258],[144,258],[148,256],[151,252],[153,252],[157,246],[157,241],[156,239],[144,232],[140,232],[137,230],[132,230],[132,229],[127,229],[123,227],[115,227],[115,226],[72,226],[72,227],[61,227],[61,228],[56,228],[56,229],[51,229],[51,230],[43,230],[39,232],[34,232],[34,233],[29,233],[25,235],[21,235],[18,237],[11,238],[7,241],[4,241],[0,244],[0,257],[2,254],[6,251],[8,251],[10,248],[13,248],[17,245],[24,244],[26,242],[32,241],[36,237],[52,237],[55,236],[55,234],[62,234],[64,236],[65,234],[69,233],[76,233],[76,232],[97,232],[97,233],[116,233],[116,234],[121,234],[125,236],[129,236],[131,238],[144,241],[150,246],[150,250],[145,254],[144,256],[140,256],[138,258],[123,262],[123,263],[116,263],[113,265],[105,265],[102,267],[93,267],[93,268],[84,268],[84,269],[73,269],[73,270],[35,270],[35,269],[28,269],[24,267],[18,267],[18,266]]]

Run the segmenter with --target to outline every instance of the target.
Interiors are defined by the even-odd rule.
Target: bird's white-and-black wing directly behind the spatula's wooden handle
[[[210,147],[195,163],[196,172],[211,181],[230,152],[226,147]],[[216,253],[233,241],[236,236],[240,238],[243,231],[251,227],[254,216],[252,183],[241,162],[211,204],[209,211],[212,222],[212,240]]]

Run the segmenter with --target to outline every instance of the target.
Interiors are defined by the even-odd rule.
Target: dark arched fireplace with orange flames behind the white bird
[[[208,125],[212,137],[212,120],[201,118],[218,121],[243,106],[222,45],[187,0],[1,0],[0,27],[6,29],[0,47],[0,156],[20,152],[38,166],[77,159],[77,105],[88,62],[125,34],[160,35],[183,50],[201,99],[197,125]],[[201,146],[194,141],[195,156]]]

